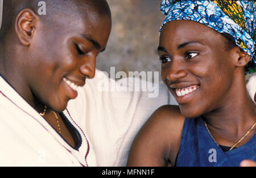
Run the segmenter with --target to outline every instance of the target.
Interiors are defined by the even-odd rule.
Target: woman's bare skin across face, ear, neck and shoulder
[[[150,117],[131,146],[127,166],[174,166],[185,117],[202,116],[219,145],[233,146],[256,121],[243,69],[250,57],[238,46],[227,50],[220,33],[184,20],[163,27],[158,52],[162,79],[179,107],[160,107]],[[199,88],[177,96],[177,88],[189,86]]]

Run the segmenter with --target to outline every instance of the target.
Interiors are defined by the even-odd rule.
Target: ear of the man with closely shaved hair
[[[30,45],[32,37],[35,35],[38,15],[31,9],[24,9],[16,17],[15,31],[20,43]]]

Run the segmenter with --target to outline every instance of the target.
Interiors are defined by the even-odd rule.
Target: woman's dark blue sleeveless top
[[[201,117],[185,119],[175,166],[240,166],[242,160],[256,161],[256,133],[245,145],[222,151]]]

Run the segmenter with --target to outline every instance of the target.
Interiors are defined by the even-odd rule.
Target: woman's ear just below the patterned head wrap
[[[251,57],[244,50],[239,48],[238,46],[233,48],[233,57],[234,63],[236,67],[245,67],[247,63],[250,61]]]

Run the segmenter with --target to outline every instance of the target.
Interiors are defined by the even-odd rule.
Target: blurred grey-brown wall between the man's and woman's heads
[[[159,27],[164,19],[160,0],[107,0],[112,11],[112,33],[97,69],[160,71],[157,53]]]

